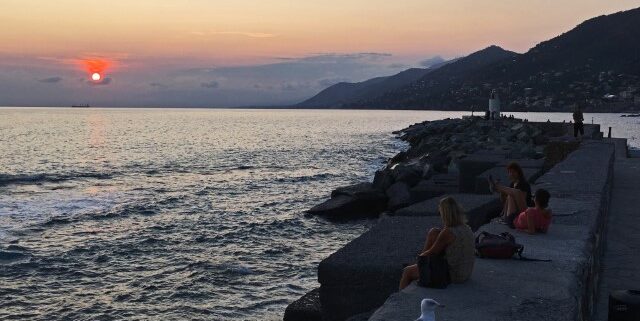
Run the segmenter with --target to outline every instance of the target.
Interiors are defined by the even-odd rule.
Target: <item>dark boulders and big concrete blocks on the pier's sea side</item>
[[[486,177],[507,182],[505,166],[518,161],[530,181],[577,147],[562,123],[480,117],[414,124],[396,132],[409,148],[376,172],[373,182],[338,188],[309,213],[331,219],[382,218],[318,266],[320,288],[289,305],[286,321],[344,320],[380,306],[397,289],[428,228],[439,225],[437,202],[456,197],[475,230],[499,210]],[[599,128],[593,129],[594,135]],[[556,146],[550,148],[550,146]],[[547,164],[553,160],[553,164]]]

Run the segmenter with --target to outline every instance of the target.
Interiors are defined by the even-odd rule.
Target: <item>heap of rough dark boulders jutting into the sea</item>
[[[330,199],[308,212],[341,220],[392,213],[445,193],[458,192],[461,183],[468,183],[460,181],[460,166],[464,166],[465,160],[488,159],[484,166],[474,168],[481,173],[506,158],[542,159],[545,143],[550,139],[535,123],[480,117],[427,121],[395,134],[410,147],[376,172],[373,182],[338,188]]]

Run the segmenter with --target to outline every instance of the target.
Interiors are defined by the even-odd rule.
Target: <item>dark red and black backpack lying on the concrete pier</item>
[[[510,259],[518,254],[522,261],[551,262],[551,260],[530,259],[522,256],[524,245],[516,243],[516,238],[509,232],[491,234],[480,232],[476,237],[476,256],[488,259]]]

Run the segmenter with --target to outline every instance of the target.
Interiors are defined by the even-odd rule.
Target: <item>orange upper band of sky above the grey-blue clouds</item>
[[[637,0],[2,0],[0,52],[192,57],[220,64],[325,52],[526,51]]]

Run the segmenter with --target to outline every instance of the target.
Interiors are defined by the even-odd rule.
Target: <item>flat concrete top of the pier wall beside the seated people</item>
[[[524,254],[552,262],[477,259],[473,275],[444,290],[415,283],[389,297],[369,320],[415,320],[419,303],[445,304],[447,320],[588,320],[594,306],[605,218],[608,214],[614,148],[586,142],[540,177],[551,192],[554,221],[547,234],[528,235],[490,223],[480,230],[510,231]]]

